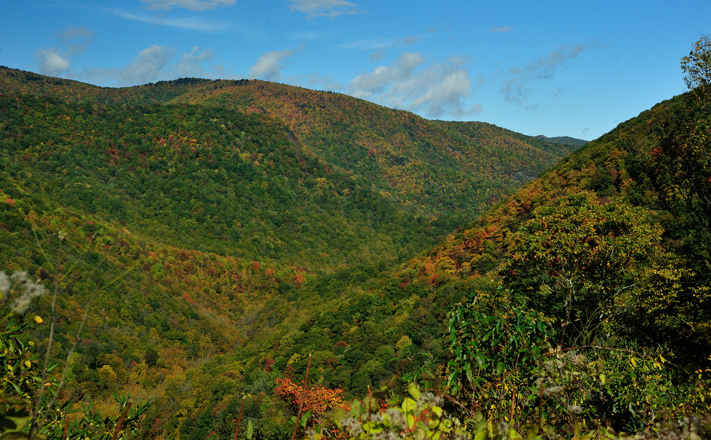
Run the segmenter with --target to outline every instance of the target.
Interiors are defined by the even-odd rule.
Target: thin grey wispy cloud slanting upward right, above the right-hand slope
[[[529,83],[536,79],[549,79],[568,60],[577,57],[585,50],[597,46],[606,47],[602,42],[592,41],[578,43],[577,45],[562,45],[556,50],[543,55],[534,62],[523,67],[511,67],[508,70],[508,77],[504,80],[503,88],[499,91],[504,99],[526,109],[535,110],[538,104],[526,104],[531,94]]]

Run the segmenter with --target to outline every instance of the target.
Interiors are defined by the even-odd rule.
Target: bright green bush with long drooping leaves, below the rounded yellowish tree
[[[460,402],[501,419],[517,398],[528,402],[529,395],[535,397],[530,391],[535,389],[533,370],[552,342],[550,328],[537,313],[499,289],[491,296],[472,293],[466,302],[454,304],[447,317],[447,385]]]

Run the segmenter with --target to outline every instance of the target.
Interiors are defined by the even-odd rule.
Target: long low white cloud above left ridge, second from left
[[[181,59],[172,62],[176,50],[161,45],[152,45],[141,50],[129,64],[116,69],[98,68],[84,72],[85,77],[100,83],[132,86],[177,77],[205,77],[210,73],[203,64],[215,58],[213,50],[200,50],[197,46],[190,53],[183,53]],[[212,70],[220,70],[220,65],[212,65]]]

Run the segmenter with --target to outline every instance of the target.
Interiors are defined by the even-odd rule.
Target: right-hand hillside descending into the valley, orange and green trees
[[[294,301],[296,308],[318,304],[310,317],[305,321],[294,320],[288,312],[282,312],[284,321],[274,326],[274,332],[258,332],[244,351],[235,351],[228,358],[242,360],[257,351],[263,353],[264,365],[299,379],[303,378],[306,357],[312,353],[311,365],[318,370],[319,383],[342,387],[347,397],[363,395],[368,384],[402,378],[418,368],[442,372],[457,351],[466,350],[466,344],[486,345],[486,339],[501,331],[498,327],[491,329],[485,337],[488,330],[482,330],[482,341],[466,339],[461,341],[462,345],[450,347],[452,342],[447,336],[461,319],[461,309],[473,307],[471,304],[477,302],[480,312],[496,316],[501,304],[491,304],[501,300],[497,292],[501,285],[515,286],[517,290],[513,292],[520,295],[533,281],[528,276],[533,277],[543,270],[550,270],[553,279],[561,276],[558,268],[561,263],[555,249],[545,246],[534,249],[544,255],[541,257],[544,263],[535,268],[535,262],[530,260],[529,273],[533,275],[517,275],[510,269],[516,261],[512,253],[520,251],[522,246],[530,246],[535,234],[545,236],[545,229],[539,230],[528,236],[530,242],[522,243],[518,235],[521,231],[529,233],[535,221],[540,221],[541,213],[555,211],[562,200],[582,200],[586,209],[602,207],[608,210],[606,215],[609,216],[594,219],[599,222],[594,226],[599,236],[594,236],[596,231],[592,229],[592,237],[582,235],[575,238],[579,241],[568,243],[579,255],[567,264],[582,271],[583,277],[599,276],[599,271],[604,271],[598,265],[604,267],[605,262],[610,265],[619,255],[624,255],[616,251],[618,255],[609,254],[601,257],[602,260],[594,260],[596,253],[602,253],[599,241],[609,236],[621,237],[626,243],[625,249],[629,249],[626,252],[635,253],[638,251],[633,248],[637,243],[649,236],[659,238],[651,243],[651,248],[634,257],[636,263],[626,260],[625,265],[616,268],[627,274],[620,278],[626,285],[611,285],[614,297],[594,307],[594,313],[604,317],[597,324],[604,331],[584,336],[590,338],[587,343],[612,351],[632,348],[635,353],[655,350],[662,353],[663,358],[671,360],[665,368],[670,375],[669,372],[675,372],[672,377],[679,387],[699,381],[699,385],[693,385],[698,386],[699,393],[693,410],[708,410],[711,395],[704,385],[709,379],[707,348],[711,346],[711,228],[708,225],[711,205],[705,199],[711,194],[708,168],[711,150],[705,140],[708,111],[707,104],[698,103],[689,94],[663,101],[588,143],[475,221],[459,227],[428,255],[392,268],[343,270],[301,288]],[[618,214],[621,217],[615,216]],[[563,240],[560,237],[568,233],[565,228],[572,228],[565,222],[576,221],[572,215],[561,215],[560,225],[549,226],[551,230],[560,227],[557,231],[560,235],[547,236],[549,241]],[[571,230],[585,229],[580,225],[584,226],[591,219],[583,216],[582,223]],[[645,230],[648,235],[626,237],[622,232],[627,227],[622,226],[624,224]],[[661,235],[656,236],[656,233]],[[585,254],[587,250],[592,256]],[[519,261],[524,267],[527,264],[527,260]],[[586,268],[588,263],[597,265],[590,264]],[[506,269],[502,271],[502,267]],[[604,282],[604,278],[600,280]],[[555,304],[543,301],[547,289],[526,292],[522,300],[528,305],[523,307],[531,307],[539,319],[560,329],[565,327],[565,320],[559,321],[555,316],[552,307]],[[453,310],[453,306],[457,307],[454,304],[460,302],[464,305],[459,304],[459,309]],[[517,312],[499,308],[498,313],[506,316],[512,310]],[[516,315],[509,318],[515,326]],[[303,324],[296,327],[298,323]],[[480,320],[477,325],[485,324]],[[506,341],[515,340],[515,333],[509,337],[512,339]],[[492,349],[498,353],[501,346],[494,344]],[[604,362],[604,358],[597,359]],[[626,365],[632,364],[634,360]],[[451,370],[446,372],[449,374]],[[483,370],[479,374],[494,373]],[[666,414],[665,411],[674,406],[688,405],[680,403],[690,398],[688,392],[674,395],[669,391],[672,388],[664,388],[668,385],[661,376],[646,379],[650,382],[642,380],[631,384],[630,378],[639,372],[620,370],[619,374],[621,383],[617,386],[620,388],[615,391],[619,394],[614,394],[611,391],[614,388],[609,385],[606,392],[610,394],[602,399],[601,392],[602,401],[593,404],[599,405],[593,411],[601,411],[594,412],[595,417],[606,417],[616,429],[636,429],[635,426],[643,426],[641,423],[656,420],[654,415],[646,422],[640,418],[652,399],[658,399],[656,405],[660,405],[657,415]],[[446,378],[447,375],[443,375],[443,383]],[[661,381],[654,383],[654,380]],[[538,393],[537,386],[534,397]],[[635,394],[637,391],[647,394]],[[621,402],[629,403],[629,412],[614,409],[614,405]],[[511,400],[505,403],[501,411],[508,414],[513,404]],[[225,413],[225,417],[229,417],[229,413]],[[225,419],[213,426],[227,423]]]

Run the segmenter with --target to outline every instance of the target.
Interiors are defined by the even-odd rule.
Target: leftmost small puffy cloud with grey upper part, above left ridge
[[[43,75],[59,77],[65,75],[71,66],[71,58],[85,52],[94,40],[94,32],[85,26],[69,25],[63,32],[55,33],[62,48],[39,48],[35,52],[38,71]]]

